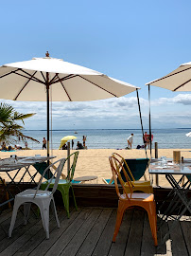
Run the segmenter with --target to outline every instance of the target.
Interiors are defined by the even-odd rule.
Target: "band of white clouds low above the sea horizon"
[[[46,102],[6,101],[21,113],[37,113],[26,120],[26,129],[46,129]],[[144,127],[148,128],[148,100],[140,98]],[[191,126],[190,94],[151,101],[154,128]],[[102,101],[52,102],[53,129],[140,128],[136,97]],[[74,128],[75,129],[75,128]]]

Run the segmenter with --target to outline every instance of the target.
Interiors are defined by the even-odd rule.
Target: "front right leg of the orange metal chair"
[[[148,209],[146,209],[148,211],[148,219],[149,219],[149,225],[150,225],[150,229],[152,232],[152,237],[154,240],[154,245],[155,247],[158,246],[158,242],[157,242],[157,216],[156,216],[156,207],[154,204],[150,204],[148,206]]]

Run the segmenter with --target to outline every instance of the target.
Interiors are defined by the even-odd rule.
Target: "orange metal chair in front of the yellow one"
[[[114,229],[114,233],[113,233],[113,242],[115,242],[117,233],[120,229],[125,210],[127,210],[128,208],[131,208],[131,207],[141,207],[141,208],[147,210],[147,212],[148,212],[148,219],[149,219],[152,237],[154,240],[154,245],[157,247],[158,246],[158,243],[157,243],[157,215],[156,215],[156,205],[155,205],[153,193],[133,192],[132,191],[133,185],[130,182],[130,180],[128,179],[127,173],[125,172],[125,169],[124,169],[122,163],[114,156],[110,156],[109,160],[110,160],[111,169],[113,172],[113,179],[114,179],[116,193],[119,197],[118,210],[117,210],[117,216],[116,216],[116,224],[115,224],[115,229]],[[129,187],[130,187],[130,193],[126,192],[126,189],[124,187],[125,182],[123,181],[123,179],[121,177],[118,166],[116,167],[116,165],[115,165],[116,162],[118,163],[118,166],[121,167],[121,169],[127,179],[127,183],[129,184]],[[118,188],[118,184],[117,184],[117,177],[118,177],[118,180],[120,181],[120,184],[123,188],[123,191],[124,191],[123,194],[121,194],[119,192],[119,188]]]

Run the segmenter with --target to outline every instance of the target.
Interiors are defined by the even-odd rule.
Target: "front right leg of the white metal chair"
[[[39,205],[41,211],[41,217],[43,221],[43,229],[45,230],[46,239],[49,239],[49,202],[43,202],[43,204]]]

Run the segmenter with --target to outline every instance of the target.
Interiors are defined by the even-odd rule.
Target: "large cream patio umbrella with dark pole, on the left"
[[[49,156],[49,101],[96,101],[121,97],[137,89],[100,72],[50,58],[0,66],[1,99],[47,102],[47,156]]]

